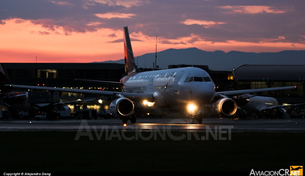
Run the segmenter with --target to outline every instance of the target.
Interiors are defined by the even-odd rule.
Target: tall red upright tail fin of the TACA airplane
[[[125,74],[137,73],[135,58],[133,56],[128,28],[124,27],[124,57],[125,57]]]

